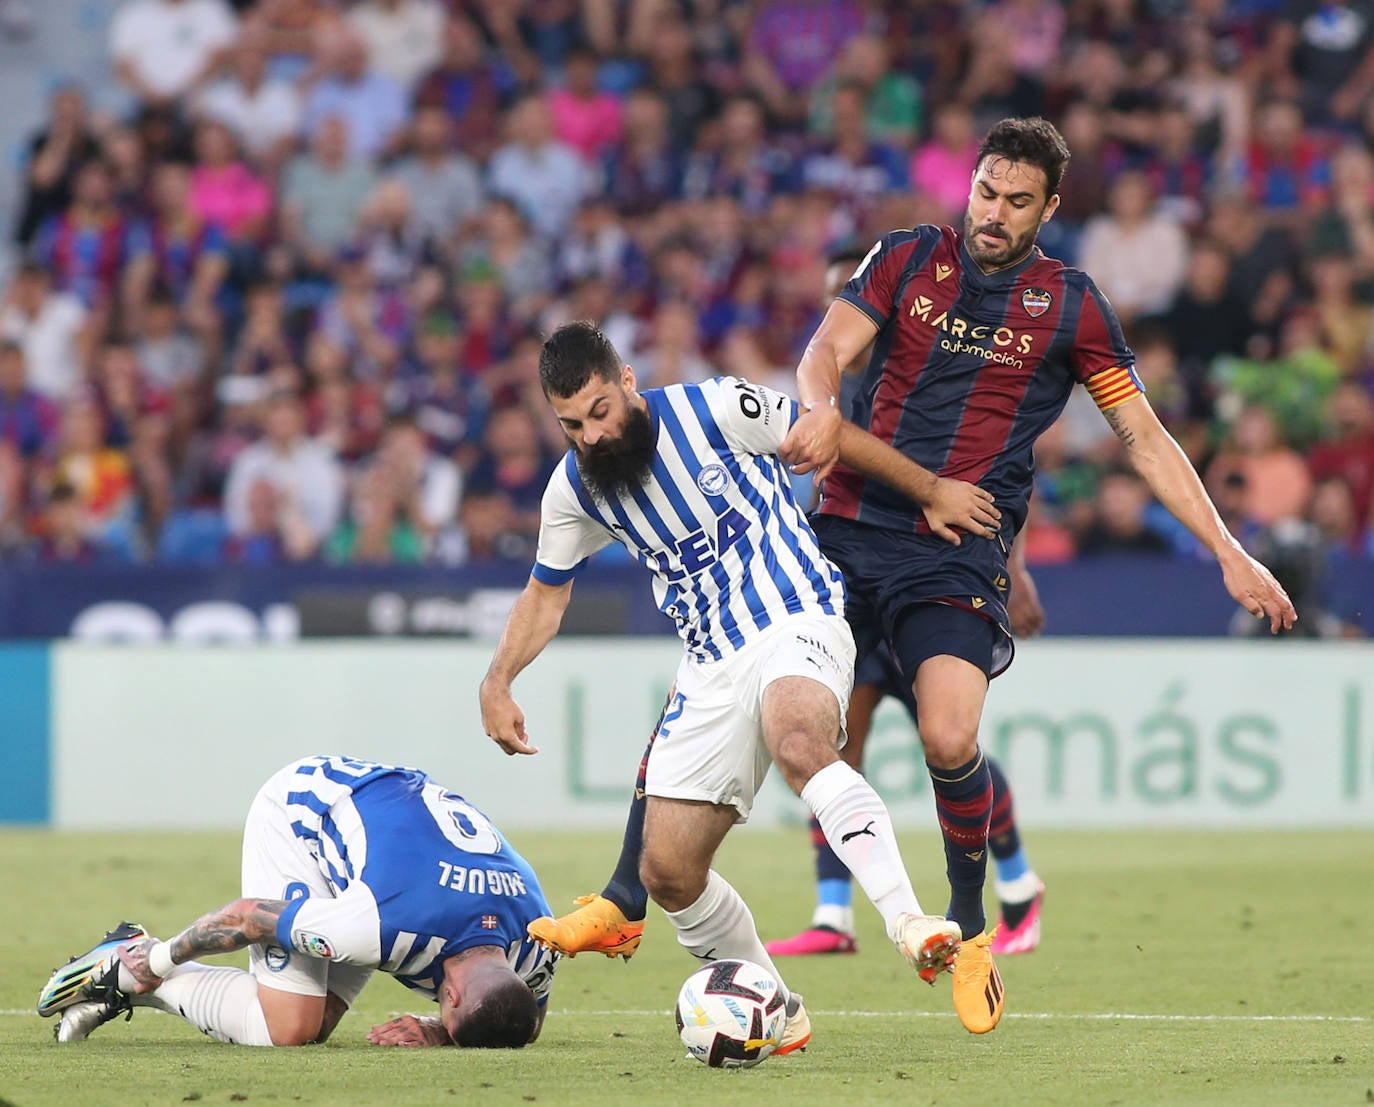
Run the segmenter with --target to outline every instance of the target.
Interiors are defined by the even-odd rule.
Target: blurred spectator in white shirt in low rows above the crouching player
[[[229,467],[224,489],[225,522],[238,538],[250,536],[254,515],[249,511],[249,493],[254,483],[267,481],[276,492],[278,516],[286,512],[293,525],[289,552],[293,558],[308,556],[338,522],[342,470],[328,449],[305,437],[301,401],[290,393],[268,400],[262,431],[262,440],[246,446]]]

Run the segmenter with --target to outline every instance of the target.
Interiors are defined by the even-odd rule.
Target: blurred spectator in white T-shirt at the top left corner
[[[131,0],[110,23],[114,73],[140,102],[174,104],[205,80],[236,30],[224,0]]]

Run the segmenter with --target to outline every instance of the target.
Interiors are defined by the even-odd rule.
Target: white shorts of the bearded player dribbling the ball
[[[749,820],[772,758],[764,744],[764,689],[780,677],[827,687],[844,717],[853,688],[855,641],[840,615],[793,615],[720,661],[683,658],[673,698],[649,754],[644,791],[699,799]]]

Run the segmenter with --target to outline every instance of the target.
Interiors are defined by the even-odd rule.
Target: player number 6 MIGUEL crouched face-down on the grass
[[[121,923],[56,970],[38,1014],[82,1041],[135,1007],[238,1045],[324,1041],[374,971],[438,1018],[374,1026],[376,1045],[519,1048],[544,1022],[556,953],[525,935],[548,913],[529,863],[425,773],[311,757],[258,791],[243,830],[243,898],[170,941]],[[249,949],[249,970],[196,964]]]

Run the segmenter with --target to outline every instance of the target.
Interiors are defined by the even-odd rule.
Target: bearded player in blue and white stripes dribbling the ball
[[[482,727],[508,754],[534,754],[511,683],[558,633],[573,580],[613,541],[654,577],[686,644],[647,757],[640,876],[677,941],[703,961],[742,959],[776,977],[745,901],[712,869],[775,764],[926,981],[952,964],[959,927],[916,901],[888,810],[840,760],[853,678],[845,584],[791,496],[779,449],[801,409],[746,380],[640,393],[633,369],[589,323],[555,331],[540,382],[572,449],[550,478],[539,551],[481,685]],[[856,470],[922,504],[932,533],[998,526],[992,497],[933,477],[856,426],[838,435]],[[778,1052],[811,1037],[790,994]]]

